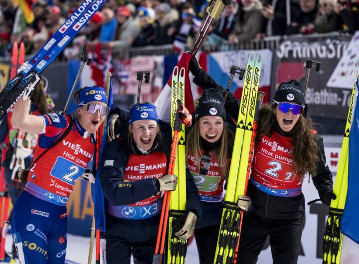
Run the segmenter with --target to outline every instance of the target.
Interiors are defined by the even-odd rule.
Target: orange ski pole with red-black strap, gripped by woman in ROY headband
[[[190,127],[191,120],[192,120],[192,116],[189,114],[189,111],[183,106],[180,100],[177,100],[177,113],[176,113],[175,126],[174,126],[175,132],[172,140],[168,174],[173,174],[175,171],[178,135],[179,132],[181,131],[181,123],[183,123],[187,127]],[[171,198],[171,191],[166,191],[163,197],[159,232],[157,234],[156,249],[152,261],[153,264],[162,263],[162,257],[165,248],[165,235],[167,230],[168,215],[170,209],[170,198]]]

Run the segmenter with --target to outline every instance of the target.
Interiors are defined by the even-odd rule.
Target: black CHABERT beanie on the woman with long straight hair
[[[220,116],[225,120],[223,101],[220,91],[214,88],[203,90],[202,96],[197,101],[193,123],[205,116]]]

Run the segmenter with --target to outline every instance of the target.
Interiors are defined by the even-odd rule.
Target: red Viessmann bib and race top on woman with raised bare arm
[[[34,160],[66,130],[70,120],[70,117],[59,114],[40,117],[45,128],[39,136]],[[75,181],[85,171],[94,150],[93,137],[75,118],[65,138],[31,165],[24,190],[39,199],[66,206]]]

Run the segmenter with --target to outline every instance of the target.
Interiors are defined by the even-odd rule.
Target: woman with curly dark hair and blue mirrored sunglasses
[[[224,89],[206,74],[195,59],[189,64],[193,82],[206,89]],[[254,264],[269,236],[274,264],[298,261],[304,227],[302,182],[312,177],[322,202],[336,199],[324,152],[323,138],[304,113],[304,88],[296,81],[281,83],[271,105],[259,113],[248,195],[251,213],[243,217],[237,263]],[[238,100],[228,94],[227,113],[238,117]]]

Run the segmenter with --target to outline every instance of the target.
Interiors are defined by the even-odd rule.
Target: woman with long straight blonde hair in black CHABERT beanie
[[[215,86],[219,87],[213,83],[212,87]],[[202,218],[194,230],[200,264],[214,262],[223,210],[223,183],[228,180],[232,155],[233,133],[225,123],[223,101],[220,91],[213,88],[203,91],[186,141],[187,171],[193,177],[202,206]],[[249,197],[239,196],[238,206],[249,211]]]

